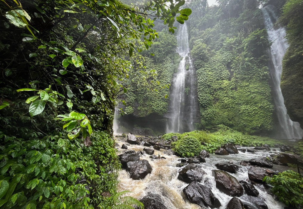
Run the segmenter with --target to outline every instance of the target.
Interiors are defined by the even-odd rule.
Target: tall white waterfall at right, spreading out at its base
[[[273,81],[274,103],[281,130],[279,138],[301,139],[303,136],[303,130],[300,128],[300,124],[298,122],[291,121],[288,116],[280,88],[282,59],[286,49],[288,48],[288,44],[285,40],[285,28],[274,28],[274,23],[278,19],[274,9],[275,8],[272,5],[268,5],[262,8],[262,13],[268,33],[268,39],[272,42],[271,60],[274,67],[271,69],[271,76]]]

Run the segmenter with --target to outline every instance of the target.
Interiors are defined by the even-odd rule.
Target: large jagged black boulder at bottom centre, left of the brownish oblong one
[[[221,206],[219,200],[211,192],[211,189],[194,181],[183,189],[183,193],[191,203],[201,207],[218,208]]]

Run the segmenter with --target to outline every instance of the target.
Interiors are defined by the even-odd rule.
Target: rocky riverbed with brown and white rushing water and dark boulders
[[[181,158],[170,150],[174,137],[115,138],[122,163],[118,188],[132,191],[146,209],[282,209],[285,205],[262,179],[292,169],[285,165],[298,157],[279,147],[225,144],[216,154],[204,150],[197,157]]]

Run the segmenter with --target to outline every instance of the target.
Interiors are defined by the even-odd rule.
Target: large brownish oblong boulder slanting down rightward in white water
[[[220,191],[232,197],[243,195],[243,187],[235,177],[220,170],[212,170],[212,174],[215,176],[216,187]]]

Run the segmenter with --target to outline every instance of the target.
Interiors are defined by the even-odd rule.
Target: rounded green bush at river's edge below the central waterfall
[[[198,156],[201,152],[201,143],[195,137],[186,136],[180,140],[171,143],[172,150],[183,157]]]

